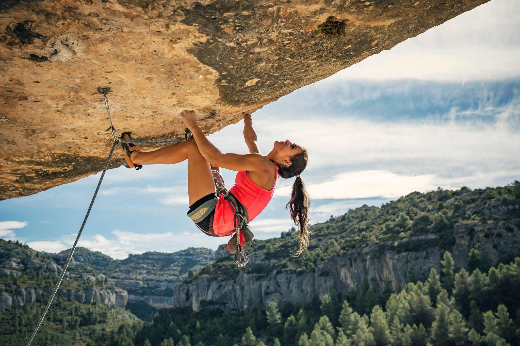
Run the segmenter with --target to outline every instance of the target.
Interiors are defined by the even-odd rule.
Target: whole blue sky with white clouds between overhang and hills
[[[267,154],[274,141],[290,139],[309,149],[302,177],[313,224],[416,190],[509,184],[520,179],[519,31],[514,0],[463,13],[257,110],[261,148]],[[241,133],[240,122],[210,140],[245,153]],[[79,245],[125,258],[227,242],[204,236],[186,216],[186,172],[186,163],[109,170]],[[231,186],[235,173],[224,176]],[[98,179],[0,201],[0,237],[49,252],[69,248]],[[292,179],[277,184],[251,222],[259,239],[292,227],[284,210]]]

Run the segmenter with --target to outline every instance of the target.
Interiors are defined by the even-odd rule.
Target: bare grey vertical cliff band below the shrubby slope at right
[[[509,207],[518,208],[518,205]],[[500,210],[494,207],[486,209],[484,213],[490,216],[501,214]],[[520,230],[512,224],[495,225],[493,228],[479,223],[464,224],[455,234],[456,243],[450,252],[458,267],[467,265],[467,256],[471,248],[486,253],[492,263],[496,263],[503,256],[520,255]],[[418,239],[401,241],[413,240]],[[315,270],[304,273],[298,273],[297,268],[291,267],[266,273],[266,269],[276,260],[266,261],[263,253],[253,254],[248,266],[241,269],[238,278],[234,280],[205,275],[192,283],[177,285],[174,306],[191,305],[194,310],[198,310],[200,301],[205,300],[209,307],[243,310],[249,297],[254,305],[264,309],[267,309],[271,299],[279,306],[287,303],[310,303],[315,294],[322,297],[332,290],[346,293],[352,287],[359,291],[365,276],[375,288],[382,286],[385,277],[391,280],[394,288],[398,285],[404,287],[409,265],[416,268],[419,278],[426,278],[430,268],[440,272],[440,260],[444,253],[438,247],[432,247],[426,251],[385,251],[382,255],[377,255],[377,249],[378,247],[372,243],[363,249],[331,256],[318,262]],[[229,256],[226,250],[225,245],[221,246],[215,253],[215,258]]]

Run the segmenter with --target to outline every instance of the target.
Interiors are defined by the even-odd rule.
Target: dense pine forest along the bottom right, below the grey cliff
[[[472,252],[475,265],[479,256]],[[410,275],[411,277],[412,275]],[[424,282],[376,292],[331,292],[310,305],[267,311],[249,306],[231,313],[202,308],[160,310],[137,331],[142,346],[517,346],[520,345],[520,258],[511,264],[454,272],[445,252],[443,269]]]

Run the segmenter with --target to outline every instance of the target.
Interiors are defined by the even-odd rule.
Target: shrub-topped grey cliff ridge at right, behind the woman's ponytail
[[[313,226],[316,239],[309,253],[299,259],[287,259],[287,250],[285,256],[273,258],[281,253],[277,247],[288,248],[283,246],[292,241],[288,234],[285,242],[279,238],[259,241],[255,246],[268,250],[252,253],[249,264],[241,269],[232,268],[226,247],[220,246],[213,273],[177,285],[174,306],[191,305],[197,310],[204,303],[243,310],[249,298],[264,309],[271,299],[279,306],[310,303],[315,294],[346,293],[352,287],[360,290],[365,276],[374,288],[382,287],[388,277],[395,289],[406,285],[410,265],[418,278],[426,278],[431,268],[440,273],[445,251],[452,253],[459,268],[467,265],[471,248],[479,250],[490,264],[512,259],[520,255],[520,184],[509,188],[512,194],[501,188],[433,191],[430,195],[414,192],[382,209],[363,206]],[[374,218],[367,217],[370,215]],[[365,234],[367,238],[382,241],[344,249],[345,245],[355,247],[355,238],[370,230],[362,225],[374,226]],[[413,236],[421,232],[431,233]],[[306,256],[314,256],[314,261]]]

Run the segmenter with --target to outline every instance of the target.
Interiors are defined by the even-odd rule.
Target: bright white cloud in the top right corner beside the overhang
[[[519,30],[520,3],[493,0],[374,54],[330,80],[486,80],[517,76]]]

